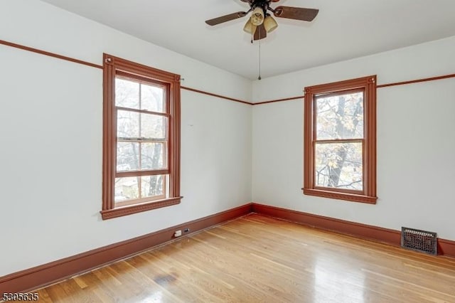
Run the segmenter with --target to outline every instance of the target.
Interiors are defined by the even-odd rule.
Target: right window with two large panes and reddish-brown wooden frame
[[[376,203],[376,76],[305,87],[304,194]]]

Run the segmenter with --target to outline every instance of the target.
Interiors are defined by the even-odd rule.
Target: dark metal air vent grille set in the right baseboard
[[[401,246],[410,250],[437,255],[437,235],[430,231],[402,227]]]

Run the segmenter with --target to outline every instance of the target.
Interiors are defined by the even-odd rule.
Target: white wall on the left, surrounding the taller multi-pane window
[[[1,1],[0,39],[251,97],[250,80],[41,1]],[[251,201],[251,106],[182,90],[181,204],[101,220],[102,70],[1,45],[0,69],[0,276]]]

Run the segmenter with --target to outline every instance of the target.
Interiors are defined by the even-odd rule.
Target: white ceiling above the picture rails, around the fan
[[[42,0],[223,70],[256,79],[258,42],[247,17],[208,26],[205,20],[247,11],[240,0]],[[313,22],[276,18],[261,41],[262,78],[455,36],[455,0],[281,0],[319,9]]]

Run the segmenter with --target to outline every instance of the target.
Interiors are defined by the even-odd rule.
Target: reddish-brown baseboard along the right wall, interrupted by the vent
[[[380,228],[373,225],[317,216],[311,213],[291,211],[286,208],[266,206],[258,203],[252,204],[252,210],[253,212],[264,216],[288,220],[323,230],[330,230],[346,235],[354,235],[358,238],[380,241],[390,245],[401,245],[401,232],[399,230]],[[438,238],[438,254],[445,255],[447,257],[455,257],[455,241]]]

